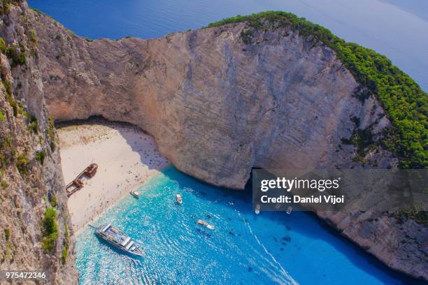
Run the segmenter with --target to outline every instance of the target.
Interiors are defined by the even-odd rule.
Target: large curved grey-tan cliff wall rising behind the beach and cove
[[[39,13],[28,19],[54,119],[136,124],[177,168],[211,184],[241,189],[252,167],[362,167],[343,139],[370,128],[378,141],[390,125],[376,98],[359,98],[363,88],[331,49],[285,27],[248,36],[241,22],[156,40],[85,41]],[[364,167],[397,164],[380,147],[363,159]],[[420,224],[318,214],[390,267],[428,279]]]

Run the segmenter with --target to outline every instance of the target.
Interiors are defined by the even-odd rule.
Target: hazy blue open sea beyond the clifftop
[[[88,38],[155,38],[224,17],[285,10],[389,57],[428,90],[426,0],[29,0]]]

